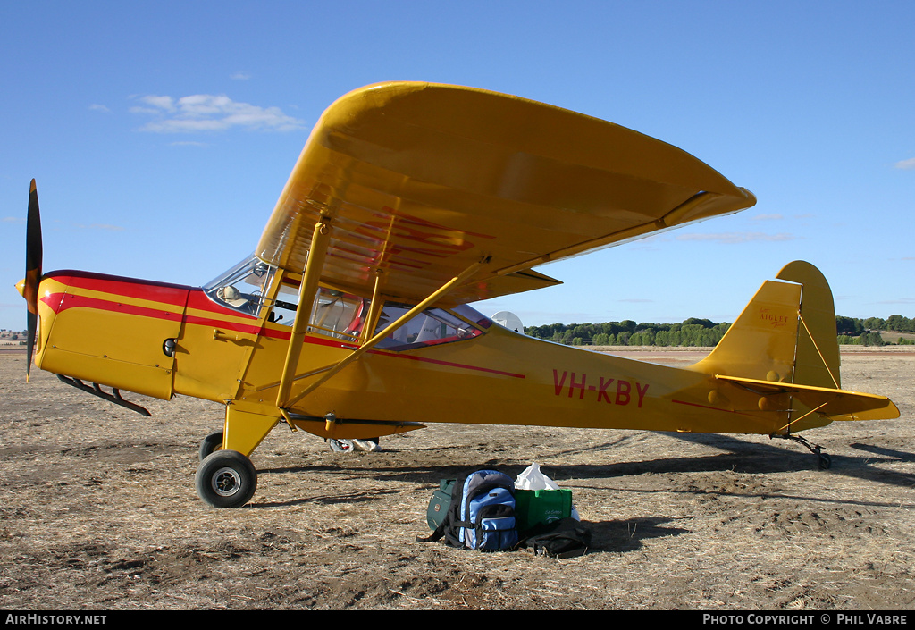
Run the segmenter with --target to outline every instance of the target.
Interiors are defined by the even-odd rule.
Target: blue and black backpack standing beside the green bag
[[[515,525],[514,482],[504,472],[476,471],[458,479],[451,503],[432,536],[445,538],[450,547],[500,551],[518,543]]]

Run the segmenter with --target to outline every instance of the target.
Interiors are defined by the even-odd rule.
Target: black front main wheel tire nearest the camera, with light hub
[[[194,483],[207,505],[241,507],[257,489],[257,471],[238,451],[216,451],[200,462]]]

